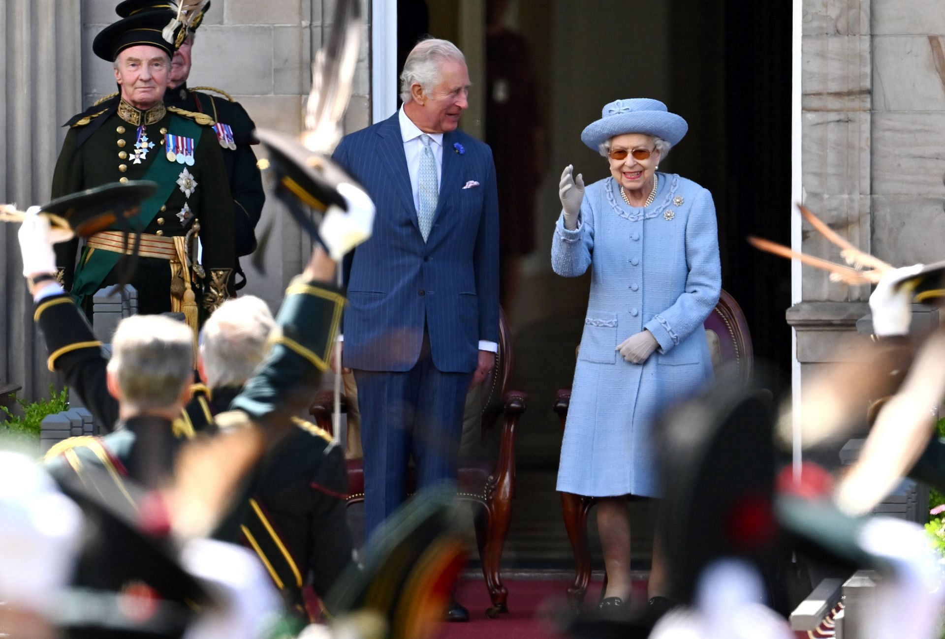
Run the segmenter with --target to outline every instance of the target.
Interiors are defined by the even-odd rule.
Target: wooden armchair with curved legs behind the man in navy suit
[[[515,429],[519,416],[525,410],[525,394],[508,389],[512,363],[512,343],[506,315],[499,311],[499,351],[495,354],[495,365],[483,381],[481,419],[484,440],[501,421],[498,457],[491,460],[460,460],[457,493],[459,498],[482,507],[476,513],[475,533],[482,573],[492,601],[492,607],[486,611],[490,618],[508,612],[508,591],[502,583],[500,562],[511,521],[512,499],[515,497]],[[309,411],[318,426],[329,432],[332,432],[333,401],[331,392],[321,393]],[[342,395],[341,411],[346,410],[347,399]],[[409,493],[416,489],[416,481],[411,468],[407,477]],[[348,504],[364,501],[363,460],[348,461],[348,482]]]

